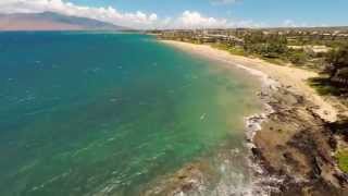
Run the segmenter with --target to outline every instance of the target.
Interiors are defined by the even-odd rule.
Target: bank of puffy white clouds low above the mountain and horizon
[[[213,0],[231,3],[236,0]],[[58,12],[66,15],[95,19],[133,28],[219,28],[260,27],[252,21],[228,21],[206,16],[197,11],[184,11],[175,17],[160,19],[157,13],[121,12],[112,7],[85,7],[63,0],[0,0],[0,13]]]

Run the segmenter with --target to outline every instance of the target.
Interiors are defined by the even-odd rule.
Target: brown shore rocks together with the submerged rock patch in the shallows
[[[334,158],[336,138],[318,107],[282,85],[259,96],[266,110],[247,120],[254,182],[240,195],[348,195],[348,175]],[[161,183],[144,195],[201,195],[216,182],[208,164],[195,162]]]

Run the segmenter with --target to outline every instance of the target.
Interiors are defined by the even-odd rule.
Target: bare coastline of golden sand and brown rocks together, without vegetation
[[[257,186],[270,195],[345,195],[347,180],[333,157],[335,142],[325,126],[339,111],[306,81],[316,73],[233,56],[206,45],[160,40],[186,52],[246,70],[262,82],[265,111],[247,118],[252,161],[262,170]],[[254,193],[258,194],[258,193]]]

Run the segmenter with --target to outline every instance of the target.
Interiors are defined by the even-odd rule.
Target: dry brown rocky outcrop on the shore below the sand
[[[315,106],[290,87],[260,93],[273,111],[252,137],[253,160],[270,195],[348,195],[348,176],[334,158],[336,139]]]

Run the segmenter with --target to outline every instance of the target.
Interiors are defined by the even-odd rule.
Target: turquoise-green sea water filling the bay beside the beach
[[[138,195],[243,148],[256,87],[215,64],[146,35],[0,33],[0,195]]]

